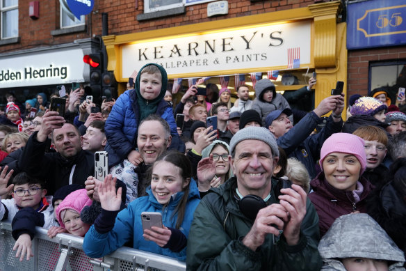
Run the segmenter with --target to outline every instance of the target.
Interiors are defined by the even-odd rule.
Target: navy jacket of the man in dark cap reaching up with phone
[[[311,111],[291,130],[277,139],[277,145],[284,149],[288,157],[296,157],[304,164],[310,178],[316,177],[315,164],[320,159],[320,150],[325,139],[336,132],[341,132],[343,125],[342,121],[334,123],[330,116],[320,132],[310,135],[320,121],[322,119],[314,111]]]

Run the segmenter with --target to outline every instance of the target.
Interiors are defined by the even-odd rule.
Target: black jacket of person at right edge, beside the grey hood
[[[389,169],[389,183],[373,192],[367,201],[368,214],[406,254],[406,201],[405,195],[396,186],[405,183],[405,178],[406,158],[400,158],[393,162]]]

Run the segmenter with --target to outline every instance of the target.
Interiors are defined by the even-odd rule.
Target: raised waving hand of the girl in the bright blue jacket
[[[104,179],[104,182],[98,184],[99,187],[99,199],[101,208],[108,211],[120,210],[121,206],[121,194],[122,187],[115,192],[115,183],[117,178],[113,178],[111,174],[108,174]]]

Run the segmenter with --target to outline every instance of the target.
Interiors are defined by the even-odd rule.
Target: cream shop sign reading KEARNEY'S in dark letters
[[[158,37],[157,37],[158,38]],[[122,46],[122,78],[147,63],[158,63],[168,75],[287,67],[295,49],[293,68],[311,62],[311,22],[246,26],[145,40]],[[223,72],[221,72],[223,71]]]

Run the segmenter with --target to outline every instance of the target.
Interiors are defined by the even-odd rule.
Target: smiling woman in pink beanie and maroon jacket
[[[366,197],[373,185],[362,173],[366,169],[364,140],[354,134],[336,133],[325,140],[320,151],[322,172],[311,180],[309,194],[318,213],[320,235],[334,220],[351,212],[366,212]]]

